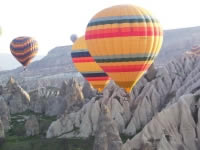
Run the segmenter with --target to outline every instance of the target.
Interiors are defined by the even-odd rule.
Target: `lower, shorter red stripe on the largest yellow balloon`
[[[124,66],[101,66],[105,72],[137,72],[145,71],[150,65],[124,65]]]

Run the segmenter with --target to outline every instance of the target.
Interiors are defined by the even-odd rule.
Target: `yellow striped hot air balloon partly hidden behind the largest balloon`
[[[90,56],[84,36],[78,38],[73,44],[71,56],[76,69],[94,88],[101,92],[109,82],[109,77]]]

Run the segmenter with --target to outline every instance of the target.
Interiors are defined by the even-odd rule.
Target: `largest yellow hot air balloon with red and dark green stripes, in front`
[[[85,39],[97,64],[130,92],[158,55],[163,31],[147,10],[117,5],[89,21]]]

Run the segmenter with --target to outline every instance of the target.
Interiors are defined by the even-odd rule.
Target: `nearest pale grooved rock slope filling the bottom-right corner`
[[[158,150],[198,150],[200,95],[184,95],[178,102],[163,109],[145,125],[123,150],[141,149],[151,145]]]

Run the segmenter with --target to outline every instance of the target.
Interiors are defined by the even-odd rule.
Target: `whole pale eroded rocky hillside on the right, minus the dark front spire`
[[[103,104],[110,110],[118,132],[133,137],[123,145],[124,150],[144,147],[197,150],[199,76],[199,56],[184,54],[155,69],[155,76],[150,80],[147,73],[130,95],[114,83],[110,84],[102,96],[93,97],[78,112],[66,112],[54,121],[47,131],[47,138],[89,137],[100,133],[100,129],[106,132],[105,128],[99,127],[103,121],[99,122],[101,111],[105,111],[101,109]],[[107,131],[107,136],[117,135],[110,132]],[[110,138],[115,139],[106,139],[110,141]],[[108,141],[104,143],[109,147]],[[119,144],[119,139],[117,141]]]

